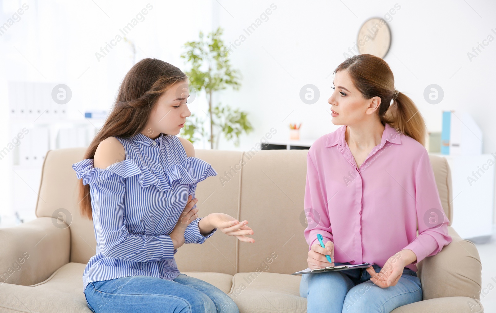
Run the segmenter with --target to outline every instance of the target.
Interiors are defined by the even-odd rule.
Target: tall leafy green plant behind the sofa
[[[192,114],[186,121],[181,135],[192,143],[198,139],[198,133],[200,138],[208,136],[211,149],[214,149],[214,143],[218,148],[221,134],[239,147],[240,136],[253,130],[247,118],[248,113],[233,109],[229,105],[222,105],[220,102],[212,103],[212,94],[215,91],[228,87],[238,90],[241,86],[240,73],[232,68],[227,58],[228,49],[221,36],[221,27],[206,36],[200,31],[199,40],[186,42],[185,52],[181,55],[189,67],[185,73],[189,78],[190,89],[196,90],[197,93],[205,92],[208,102],[206,114],[210,124],[209,132],[206,132],[203,128],[204,120]],[[214,125],[218,126],[217,134],[214,134]]]

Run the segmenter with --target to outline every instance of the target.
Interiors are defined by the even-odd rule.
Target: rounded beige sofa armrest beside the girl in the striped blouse
[[[57,227],[54,220],[41,217],[0,228],[0,283],[34,285],[69,262],[69,228]]]

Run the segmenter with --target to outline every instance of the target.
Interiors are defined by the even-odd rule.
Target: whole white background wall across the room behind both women
[[[327,98],[329,76],[356,42],[359,27],[370,17],[386,17],[392,33],[391,50],[385,57],[396,87],[418,105],[430,131],[440,131],[441,111],[466,109],[484,133],[484,153],[496,152],[496,113],[493,105],[496,42],[472,61],[467,53],[488,35],[496,34],[494,1],[2,1],[0,24],[22,6],[29,9],[0,36],[0,100],[6,103],[7,80],[54,81],[68,84],[73,93],[69,114],[80,117],[86,108],[109,109],[118,86],[132,66],[130,46],[120,42],[97,60],[106,42],[119,33],[137,13],[153,8],[128,34],[139,48],[136,61],[155,57],[186,69],[179,56],[183,44],[195,40],[198,31],[224,28],[226,43],[244,34],[251,23],[274,3],[268,20],[247,36],[231,54],[231,62],[243,75],[239,91],[225,90],[216,97],[222,103],[249,112],[254,131],[241,138],[241,147],[222,141],[220,149],[249,150],[271,128],[275,139],[288,138],[288,124],[303,123],[302,139],[314,139],[333,131]],[[97,5],[98,3],[98,5]],[[299,97],[305,84],[320,90],[317,103],[307,105]],[[427,85],[438,84],[444,99],[436,105],[423,98]],[[205,101],[198,98],[190,108],[203,114]],[[0,118],[7,106],[0,106]],[[0,120],[0,141],[9,141],[6,121]],[[203,148],[197,144],[197,148]],[[0,164],[2,172],[8,171]],[[12,175],[12,172],[9,172]],[[14,174],[15,175],[15,174]],[[0,187],[2,199],[10,194],[8,179]],[[37,190],[34,186],[34,190]],[[8,206],[8,205],[7,205]],[[495,218],[496,220],[496,218]]]

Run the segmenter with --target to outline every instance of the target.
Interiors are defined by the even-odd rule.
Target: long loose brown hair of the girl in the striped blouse
[[[105,139],[132,137],[148,122],[157,99],[172,85],[187,77],[172,64],[158,59],[143,59],[125,75],[114,106],[103,127],[89,145],[84,158],[94,158],[98,145]],[[92,220],[90,185],[79,181],[79,209],[83,217]]]

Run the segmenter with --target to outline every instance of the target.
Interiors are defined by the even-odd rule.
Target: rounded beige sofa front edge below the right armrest
[[[434,256],[434,255],[433,255]],[[391,313],[484,313],[479,300],[467,297],[446,297],[414,302],[394,309]]]

